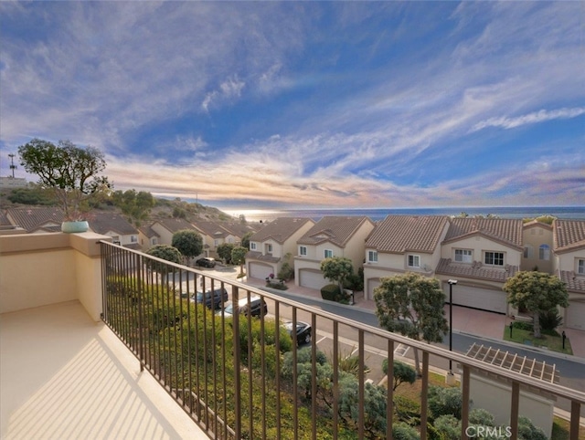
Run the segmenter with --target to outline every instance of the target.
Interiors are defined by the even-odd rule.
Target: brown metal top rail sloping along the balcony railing
[[[293,307],[296,309],[303,309],[305,311],[308,311],[308,312],[314,314],[315,316],[319,316],[319,317],[327,319],[327,320],[338,321],[338,322],[342,323],[343,325],[350,327],[350,328],[353,328],[356,330],[364,330],[367,333],[372,334],[372,335],[376,335],[380,338],[383,338],[386,340],[392,340],[394,342],[408,345],[414,349],[419,349],[421,351],[427,351],[430,354],[433,354],[435,356],[439,356],[443,359],[458,362],[462,366],[469,367],[472,370],[477,370],[480,372],[488,373],[488,374],[494,375],[495,377],[500,378],[500,379],[505,379],[505,380],[512,381],[512,382],[518,382],[521,385],[524,385],[524,386],[527,386],[530,388],[536,388],[540,391],[551,393],[551,394],[559,396],[559,397],[567,398],[573,402],[579,402],[581,404],[585,404],[585,393],[581,393],[577,390],[573,390],[573,389],[564,387],[562,385],[558,385],[556,383],[539,381],[539,380],[532,378],[532,377],[529,377],[525,374],[506,370],[502,367],[492,365],[489,363],[485,363],[484,361],[479,361],[479,360],[470,358],[470,357],[468,357],[462,353],[458,353],[456,351],[448,351],[446,349],[431,345],[431,344],[424,342],[424,341],[412,340],[412,339],[407,338],[406,336],[402,336],[398,333],[393,333],[393,332],[390,332],[388,330],[383,330],[383,329],[379,329],[376,327],[372,327],[368,324],[364,324],[364,323],[356,321],[356,320],[344,318],[342,321],[339,319],[340,317],[338,315],[336,315],[335,313],[331,313],[331,312],[328,312],[328,311],[323,310],[323,309],[317,309],[317,308],[314,308],[312,306],[308,306],[308,305],[305,305],[301,302],[295,301],[293,299],[283,298],[278,294],[263,290],[261,288],[255,288],[253,286],[249,286],[247,284],[242,283],[241,281],[237,281],[237,280],[230,279],[230,278],[209,276],[204,271],[201,271],[201,270],[198,270],[198,269],[195,269],[192,267],[186,267],[184,265],[176,264],[176,263],[167,261],[167,260],[162,259],[162,258],[153,257],[153,256],[150,256],[148,254],[145,254],[144,252],[129,249],[127,247],[120,246],[120,245],[114,245],[110,242],[103,241],[103,240],[101,240],[100,242],[104,245],[113,246],[113,247],[119,248],[125,252],[138,254],[144,258],[149,258],[149,259],[155,260],[159,263],[165,264],[167,266],[175,267],[177,270],[193,272],[193,273],[196,273],[197,275],[202,275],[202,276],[205,276],[207,278],[217,279],[219,282],[228,284],[230,286],[234,286],[236,288],[241,288],[243,290],[253,292],[255,294],[261,295],[261,296],[268,298],[268,299],[276,300],[276,301],[280,302],[281,304],[284,304],[284,305],[287,305],[287,306],[290,306],[290,307]]]

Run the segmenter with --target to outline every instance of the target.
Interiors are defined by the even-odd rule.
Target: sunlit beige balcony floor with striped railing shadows
[[[0,315],[0,438],[208,439],[79,302]]]

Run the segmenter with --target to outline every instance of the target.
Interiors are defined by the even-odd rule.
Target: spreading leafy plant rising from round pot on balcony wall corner
[[[20,164],[37,174],[38,183],[53,190],[65,215],[63,232],[85,232],[86,201],[99,191],[111,189],[108,178],[98,175],[105,167],[103,153],[95,147],[80,148],[71,141],[33,139],[18,147]]]

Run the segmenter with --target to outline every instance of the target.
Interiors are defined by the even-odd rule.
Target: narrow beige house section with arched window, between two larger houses
[[[552,225],[536,220],[525,223],[522,228],[524,255],[520,270],[537,269],[552,274],[552,240]]]

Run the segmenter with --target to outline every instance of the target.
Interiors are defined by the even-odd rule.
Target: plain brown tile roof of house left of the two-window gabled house
[[[432,253],[448,221],[446,215],[388,215],[367,238],[366,247],[396,254]]]

